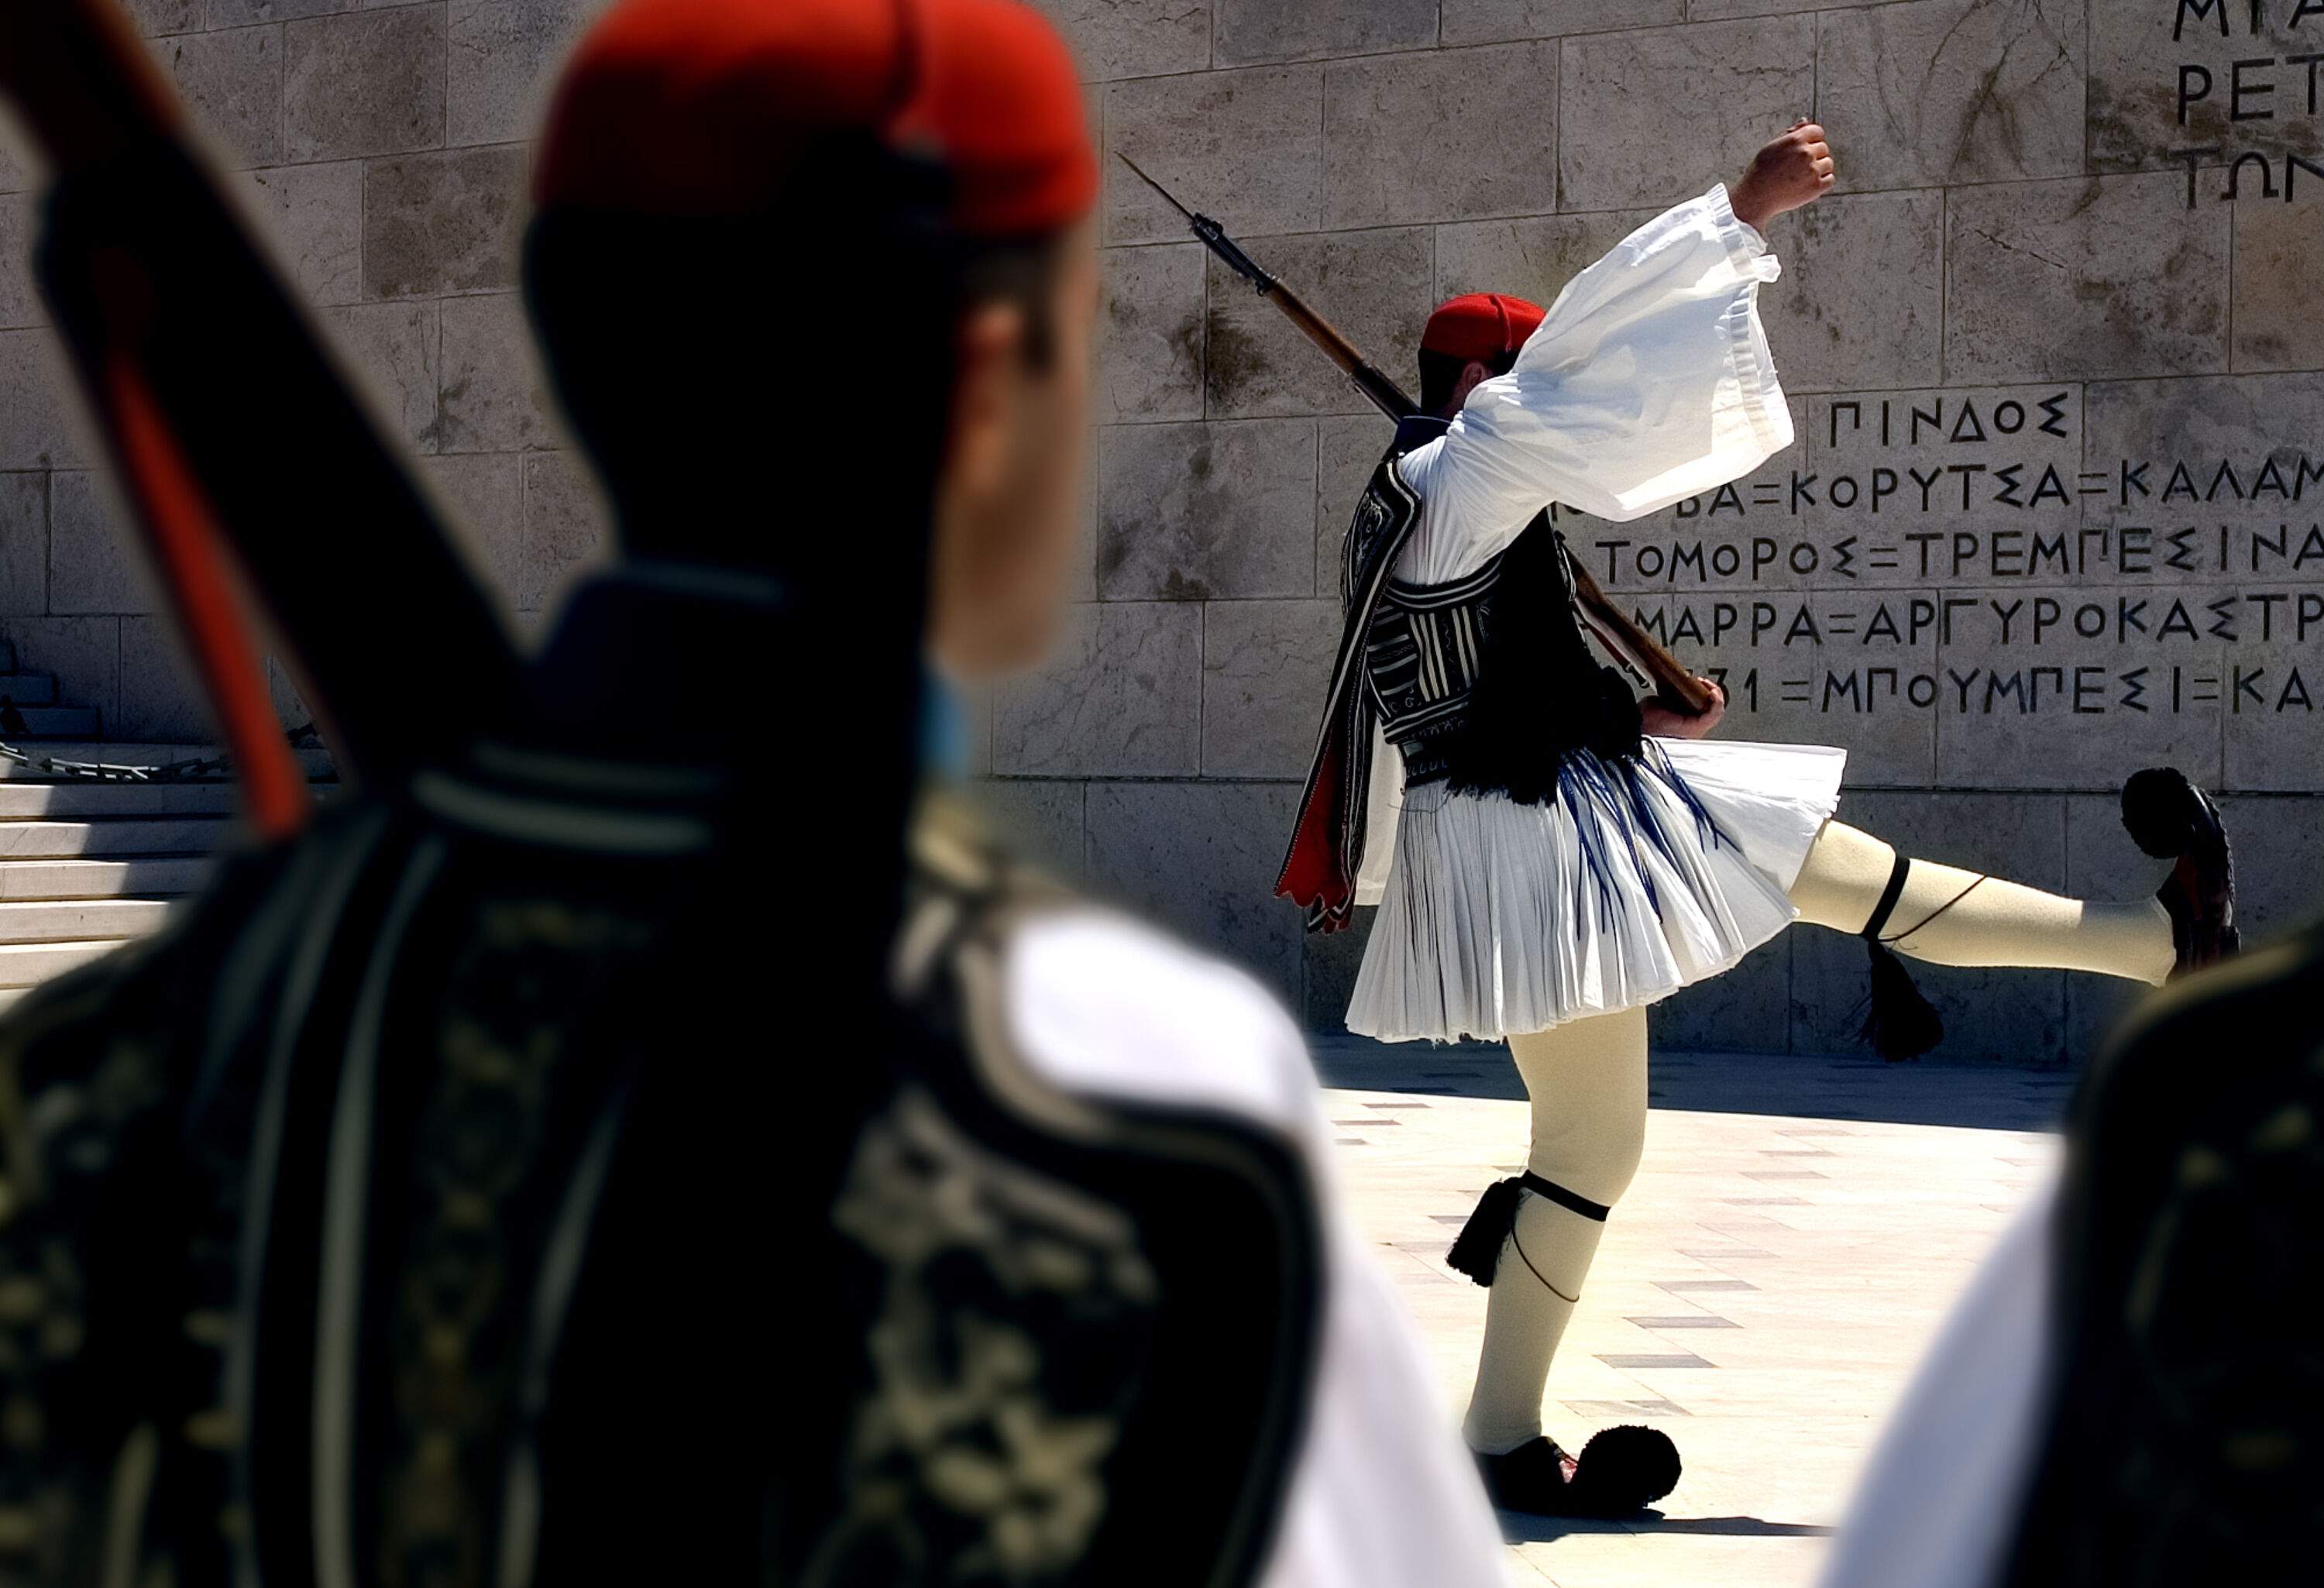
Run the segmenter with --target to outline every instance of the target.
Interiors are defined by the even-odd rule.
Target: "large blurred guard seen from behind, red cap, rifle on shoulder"
[[[1283,1011],[913,814],[923,656],[1037,653],[1071,544],[1046,23],[590,33],[528,291],[623,560],[530,665],[119,14],[12,0],[0,88],[253,816],[0,1025],[0,1581],[1497,1581]],[[321,816],[244,600],[358,784]]]

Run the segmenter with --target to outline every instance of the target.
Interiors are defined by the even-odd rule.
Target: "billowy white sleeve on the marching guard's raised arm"
[[[1789,446],[1759,323],[1759,286],[1780,274],[1717,186],[1573,277],[1518,365],[1401,463],[1427,505],[1413,572],[1457,579],[1550,502],[1641,518]]]

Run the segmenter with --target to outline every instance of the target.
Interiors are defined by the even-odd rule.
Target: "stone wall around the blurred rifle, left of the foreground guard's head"
[[[232,191],[528,625],[604,549],[516,298],[539,95],[600,5],[128,0]],[[112,739],[207,739],[33,291],[30,188],[28,160],[0,156],[0,637]],[[267,416],[249,432],[265,446]],[[281,677],[277,693],[297,716]]]

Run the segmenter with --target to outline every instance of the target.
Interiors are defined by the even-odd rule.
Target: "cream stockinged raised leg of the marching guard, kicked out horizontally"
[[[1792,902],[1803,921],[1862,932],[1894,874],[1894,849],[1831,821],[1808,849]],[[2159,900],[2089,904],[1929,860],[1906,870],[1880,937],[1931,965],[2085,970],[2157,986],[2178,958]]]

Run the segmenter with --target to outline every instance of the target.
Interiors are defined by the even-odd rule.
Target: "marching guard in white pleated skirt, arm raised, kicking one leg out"
[[[1594,586],[1550,502],[1638,518],[1789,444],[1757,314],[1780,274],[1762,228],[1831,181],[1803,121],[1548,312],[1443,305],[1422,414],[1348,530],[1348,628],[1278,890],[1318,930],[1343,925],[1360,888],[1378,900],[1350,1030],[1504,1039],[1525,1079],[1527,1172],[1485,1193],[1452,1249],[1492,1286],[1464,1432],[1511,1509],[1620,1514],[1678,1479],[1659,1432],[1615,1430],[1576,1462],[1541,1430],[1550,1360],[1638,1167],[1648,1004],[1801,918],[1871,939],[1873,1035],[1908,1056],[1934,1014],[1889,949],[2161,983],[2236,946],[2226,835],[2178,772],[2124,788],[2133,837],[2178,863],[2159,895],[2087,904],[1899,856],[1831,821],[1845,751],[1703,742],[1715,686],[1699,711],[1641,707],[1592,656],[1585,632],[1618,658],[1631,646],[1604,602],[1576,600]]]

